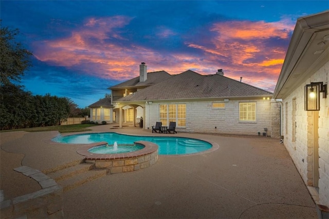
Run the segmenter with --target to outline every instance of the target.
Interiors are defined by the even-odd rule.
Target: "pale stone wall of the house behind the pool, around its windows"
[[[212,103],[223,102],[225,109],[213,109]],[[256,102],[256,122],[239,122],[239,103]],[[267,128],[267,135],[280,137],[280,107],[270,99],[224,99],[210,101],[180,101],[180,102],[153,102],[145,106],[145,115],[150,121],[145,121],[144,128],[151,129],[159,121],[160,104],[186,104],[186,127],[176,127],[181,132],[200,132],[216,134],[245,134],[258,135]],[[149,111],[150,110],[150,111]],[[274,116],[274,118],[272,118]],[[216,128],[215,128],[216,127]]]

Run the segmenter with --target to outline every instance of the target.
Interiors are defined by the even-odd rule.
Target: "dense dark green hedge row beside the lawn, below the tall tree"
[[[0,90],[1,130],[60,125],[70,114],[70,100],[46,94],[35,95],[8,84]]]

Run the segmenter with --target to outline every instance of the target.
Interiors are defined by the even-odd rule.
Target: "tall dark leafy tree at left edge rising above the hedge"
[[[0,21],[0,127],[12,129],[24,127],[30,122],[33,111],[32,94],[23,90],[20,82],[24,71],[30,66],[32,53],[15,41],[19,30],[3,28]]]

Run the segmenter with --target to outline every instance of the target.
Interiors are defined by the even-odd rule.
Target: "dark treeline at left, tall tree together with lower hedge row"
[[[88,115],[67,97],[33,96],[19,85],[33,54],[15,41],[18,34],[0,20],[0,130],[60,125],[67,117]]]

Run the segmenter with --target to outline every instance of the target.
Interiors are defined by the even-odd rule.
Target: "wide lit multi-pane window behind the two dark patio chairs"
[[[159,112],[162,126],[176,122],[177,127],[186,127],[186,104],[161,104]]]

